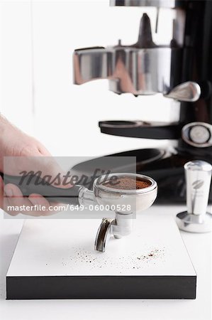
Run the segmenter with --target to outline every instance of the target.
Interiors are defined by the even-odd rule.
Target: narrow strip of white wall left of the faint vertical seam
[[[0,112],[18,127],[33,133],[30,23],[29,2],[1,2]]]

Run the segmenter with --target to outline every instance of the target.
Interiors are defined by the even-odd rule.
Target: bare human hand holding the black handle
[[[6,168],[4,168],[4,156],[9,157]],[[21,171],[31,170],[42,171],[43,176],[57,176],[58,173],[61,173],[60,166],[43,144],[21,132],[0,115],[0,172],[18,176]],[[24,212],[7,210],[9,206],[32,207],[35,205],[43,206],[46,209]],[[8,183],[4,186],[4,181],[0,176],[0,208],[10,215],[17,215],[20,212],[33,216],[50,215],[54,213],[49,210],[52,205],[53,203],[50,203],[46,198],[35,193],[23,197],[21,190],[14,184]]]

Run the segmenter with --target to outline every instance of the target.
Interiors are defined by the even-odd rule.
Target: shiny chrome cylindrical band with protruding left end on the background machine
[[[118,94],[166,94],[180,81],[181,49],[116,47],[74,51],[74,83],[108,79]],[[174,82],[172,73],[175,74]]]

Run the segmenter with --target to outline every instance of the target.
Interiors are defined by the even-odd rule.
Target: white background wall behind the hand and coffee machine
[[[178,107],[160,96],[108,91],[106,80],[72,84],[74,48],[133,43],[142,9],[108,1],[6,1],[3,4],[2,112],[55,156],[95,156],[163,144],[101,134],[103,119],[172,121]],[[155,17],[154,9],[148,9]],[[33,113],[34,110],[34,113]],[[174,110],[174,115],[171,113]]]

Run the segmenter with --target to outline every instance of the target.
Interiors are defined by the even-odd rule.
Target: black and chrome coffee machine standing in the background
[[[130,92],[142,100],[142,95],[160,93],[180,102],[179,121],[174,123],[116,119],[99,122],[99,127],[114,136],[177,142],[172,151],[138,149],[110,156],[136,156],[137,173],[157,181],[157,203],[184,202],[184,164],[196,159],[212,164],[212,1],[111,0],[110,4],[155,7],[155,27],[143,14],[136,43],[129,46],[119,40],[115,46],[75,50],[74,83],[108,79],[109,89],[118,95]],[[164,13],[169,17],[166,39],[160,37]],[[78,174],[92,170],[92,160],[73,168]]]

